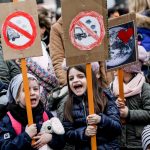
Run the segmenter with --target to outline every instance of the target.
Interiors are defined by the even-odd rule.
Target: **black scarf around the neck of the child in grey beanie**
[[[22,124],[22,126],[26,127],[26,125],[28,124],[26,109],[13,102],[8,104],[7,111],[9,111],[11,115]],[[38,106],[32,109],[34,123],[36,123],[37,116],[42,116],[43,112],[44,107],[42,102],[40,101]]]

